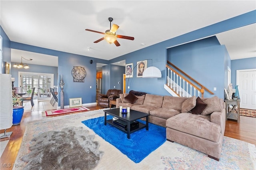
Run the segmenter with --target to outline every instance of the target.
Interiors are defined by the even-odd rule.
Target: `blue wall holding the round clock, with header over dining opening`
[[[60,82],[60,75],[63,75],[64,79],[64,105],[69,105],[70,98],[82,97],[82,103],[95,103],[96,102],[96,63],[108,64],[109,61],[104,59],[97,59],[94,57],[87,57],[84,55],[77,55],[72,53],[66,53],[62,51],[56,51],[52,49],[46,49],[42,47],[36,47],[32,45],[26,45],[17,42],[11,42],[11,48],[20,49],[24,51],[31,51],[35,53],[42,53],[47,55],[58,56],[58,82]],[[93,63],[90,64],[90,60]],[[85,67],[86,77],[84,83],[73,82],[71,70],[74,66]],[[59,85],[59,83],[58,83]],[[90,86],[92,88],[90,88]],[[60,99],[60,88],[58,88],[58,98]],[[58,103],[60,106],[60,102]]]

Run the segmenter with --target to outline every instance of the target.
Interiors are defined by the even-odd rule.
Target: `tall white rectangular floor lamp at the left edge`
[[[0,139],[9,138],[12,132],[6,132],[12,127],[12,79],[10,74],[0,74]]]

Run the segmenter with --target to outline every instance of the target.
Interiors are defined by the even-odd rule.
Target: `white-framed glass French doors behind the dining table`
[[[50,87],[54,86],[54,74],[18,72],[18,86],[27,96],[36,95],[38,101],[50,100]],[[34,94],[31,94],[33,87],[36,87]]]

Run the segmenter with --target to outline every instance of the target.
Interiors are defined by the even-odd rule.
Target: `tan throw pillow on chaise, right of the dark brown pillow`
[[[202,99],[204,103],[207,104],[206,108],[203,110],[201,115],[210,115],[212,112],[220,112],[222,111],[222,107],[220,106],[220,101],[217,96],[214,96],[209,99]]]

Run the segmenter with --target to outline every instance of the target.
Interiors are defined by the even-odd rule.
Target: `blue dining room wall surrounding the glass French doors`
[[[12,63],[14,65],[15,63]],[[14,87],[18,87],[18,72],[31,72],[31,73],[50,73],[54,74],[54,86],[58,86],[58,67],[46,66],[46,65],[35,65],[29,64],[29,69],[19,69],[12,67],[12,77],[15,78]],[[53,87],[52,87],[53,88]]]

